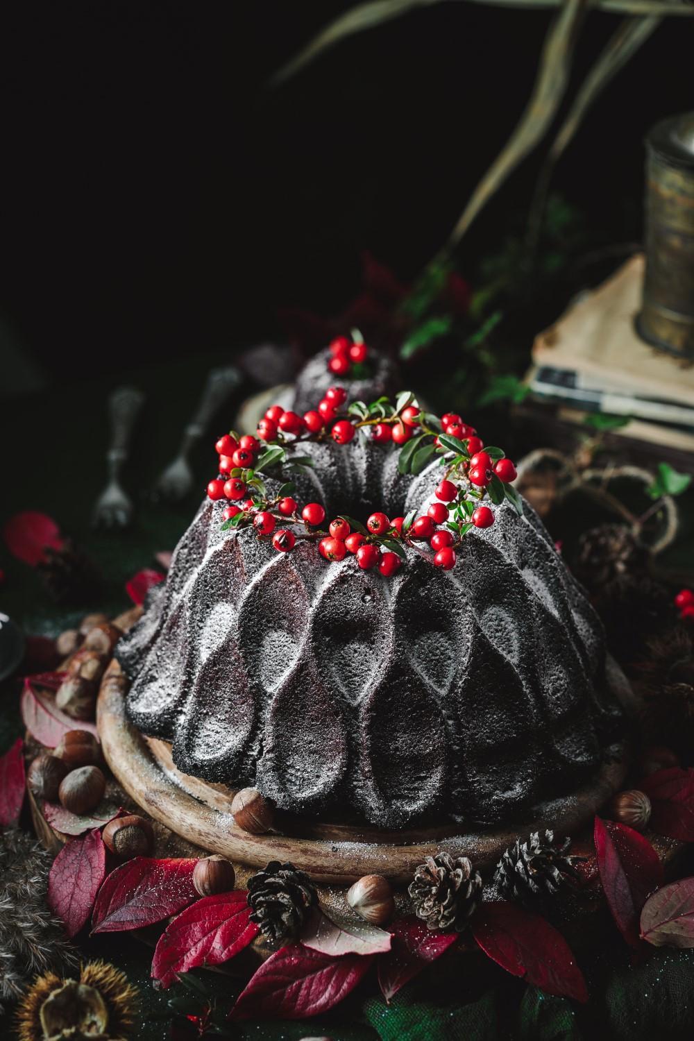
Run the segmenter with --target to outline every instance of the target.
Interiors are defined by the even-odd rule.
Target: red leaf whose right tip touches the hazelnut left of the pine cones
[[[108,875],[99,890],[93,933],[120,933],[178,914],[198,893],[192,871],[198,861],[134,857]]]

